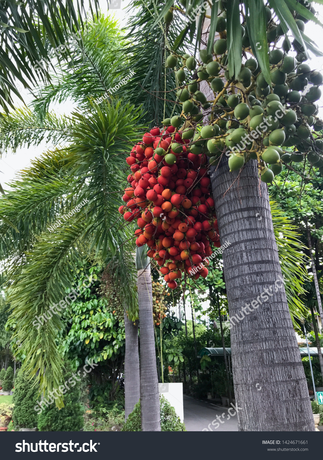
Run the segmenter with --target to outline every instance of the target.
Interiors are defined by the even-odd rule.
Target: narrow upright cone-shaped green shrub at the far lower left
[[[37,413],[34,410],[37,405],[37,387],[33,386],[34,380],[29,380],[22,369],[15,377],[15,391],[12,398],[15,404],[13,410],[15,428],[34,428],[37,426]]]

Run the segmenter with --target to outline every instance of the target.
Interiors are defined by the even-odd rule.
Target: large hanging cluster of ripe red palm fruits
[[[147,132],[126,159],[130,174],[119,207],[127,222],[137,220],[136,245],[147,244],[171,289],[184,271],[205,278],[204,259],[212,244],[220,247],[207,157],[191,153],[188,143],[172,126]]]

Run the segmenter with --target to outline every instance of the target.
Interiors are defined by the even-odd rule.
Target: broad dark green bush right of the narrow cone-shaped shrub
[[[72,376],[71,367],[65,364],[65,372],[63,372],[63,381],[68,379],[76,381]],[[39,431],[79,431],[83,428],[83,412],[84,409],[79,403],[80,390],[79,383],[76,382],[71,386],[69,382],[69,390],[64,394],[64,407],[60,410],[55,406],[55,402],[48,404],[46,408],[42,405],[43,410],[38,416]]]

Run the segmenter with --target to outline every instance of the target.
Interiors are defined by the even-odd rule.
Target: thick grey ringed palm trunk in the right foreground
[[[211,171],[221,243],[231,243],[223,267],[239,431],[314,431],[266,184],[254,160],[233,185],[238,173],[229,173],[226,156]]]

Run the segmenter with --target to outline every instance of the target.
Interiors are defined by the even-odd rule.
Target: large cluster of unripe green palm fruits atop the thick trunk
[[[220,38],[212,53],[201,49],[198,56],[174,53],[166,59],[167,67],[176,72],[176,100],[181,107],[171,125],[185,132],[189,151],[206,155],[210,165],[217,165],[224,155],[233,172],[256,160],[266,183],[292,162],[309,161],[323,175],[323,121],[317,116],[322,74],[306,63],[305,50],[296,40],[289,47],[281,24],[266,7],[272,81],[266,81],[255,57],[249,57],[230,79],[225,5],[220,1],[222,12],[216,23]],[[306,19],[292,13],[303,32]],[[250,46],[244,25],[241,52]],[[292,51],[295,57],[289,55]],[[210,91],[213,96],[208,100]]]

